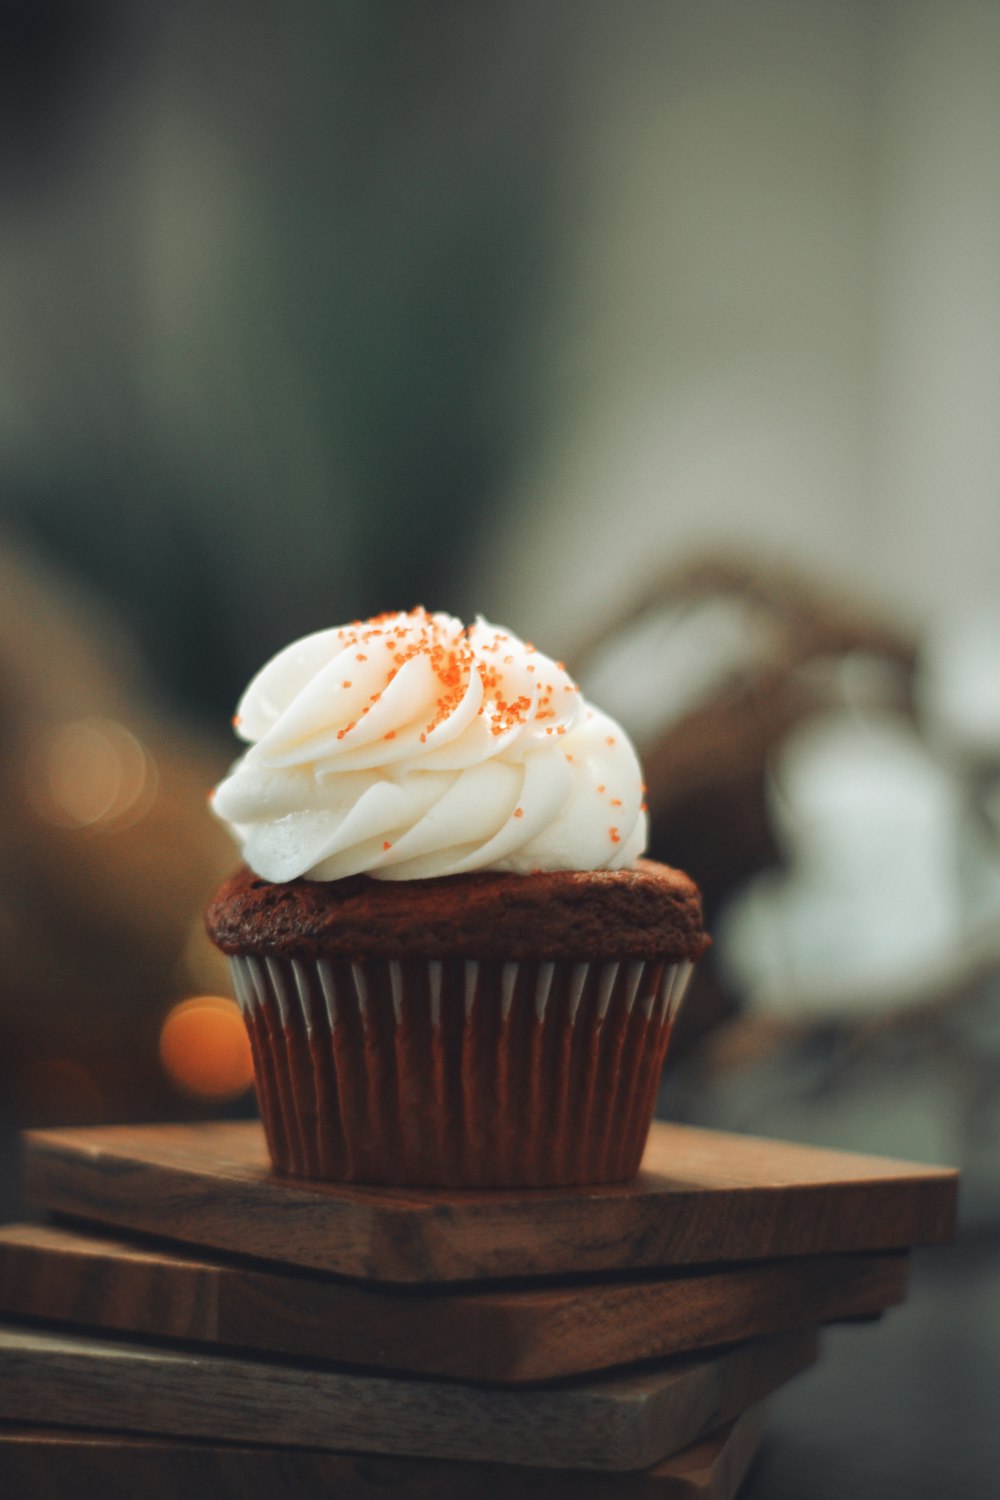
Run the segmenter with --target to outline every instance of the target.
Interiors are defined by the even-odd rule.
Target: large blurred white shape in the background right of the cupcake
[[[838,711],[786,740],[769,800],[787,868],[751,880],[718,932],[750,1008],[910,1004],[963,936],[958,783],[903,716]]]

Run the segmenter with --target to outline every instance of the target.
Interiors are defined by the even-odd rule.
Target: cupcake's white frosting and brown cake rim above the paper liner
[[[642,860],[624,729],[508,630],[424,609],[306,636],[240,700],[214,812],[246,866],[226,952],[696,958],[688,876]]]

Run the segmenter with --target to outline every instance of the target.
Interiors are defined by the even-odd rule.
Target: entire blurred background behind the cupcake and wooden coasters
[[[1000,3],[0,0],[0,1112],[252,1110],[250,674],[477,610],[715,946],[661,1112],[1000,1222]]]

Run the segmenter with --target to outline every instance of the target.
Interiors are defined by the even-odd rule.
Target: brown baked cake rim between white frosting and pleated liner
[[[697,958],[709,939],[687,874],[628,870],[493,872],[426,880],[270,882],[243,867],[205,914],[223,952],[283,958]]]

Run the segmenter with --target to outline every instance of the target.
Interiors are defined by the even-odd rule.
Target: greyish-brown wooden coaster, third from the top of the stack
[[[813,1330],[528,1390],[0,1326],[7,1422],[541,1468],[649,1468],[816,1358]]]

